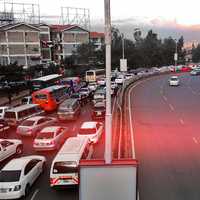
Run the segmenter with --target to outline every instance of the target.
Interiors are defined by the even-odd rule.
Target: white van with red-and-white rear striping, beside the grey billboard
[[[50,186],[78,185],[79,162],[81,159],[89,159],[92,152],[87,137],[68,138],[51,164]]]

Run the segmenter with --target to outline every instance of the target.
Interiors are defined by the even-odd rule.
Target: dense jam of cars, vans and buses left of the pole
[[[116,76],[113,72],[112,96],[119,88]],[[49,170],[49,186],[78,185],[79,161],[92,157],[104,134],[104,69],[86,71],[84,81],[58,74],[33,79],[31,91],[20,105],[0,107],[0,199],[27,196],[46,170],[45,152],[50,151],[56,154]],[[92,120],[81,123],[77,134],[69,137],[70,124],[76,124],[87,105]],[[26,138],[31,138],[34,155],[24,155]]]

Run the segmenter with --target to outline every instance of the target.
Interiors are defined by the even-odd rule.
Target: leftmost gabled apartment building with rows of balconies
[[[0,64],[30,66],[41,60],[40,29],[18,23],[0,26]]]

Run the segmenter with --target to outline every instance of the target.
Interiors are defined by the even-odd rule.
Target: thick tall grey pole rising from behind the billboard
[[[106,45],[106,117],[105,117],[105,162],[112,161],[112,114],[111,114],[111,17],[110,0],[104,0],[105,45]]]

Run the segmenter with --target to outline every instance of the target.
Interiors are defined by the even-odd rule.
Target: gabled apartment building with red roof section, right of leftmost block
[[[71,56],[78,45],[89,42],[89,31],[77,25],[51,25],[50,28],[55,62],[61,62]]]

